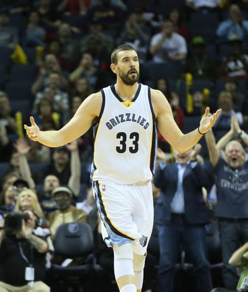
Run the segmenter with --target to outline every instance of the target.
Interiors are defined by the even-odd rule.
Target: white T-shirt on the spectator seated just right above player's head
[[[157,44],[162,38],[162,32],[153,35],[151,45]],[[153,54],[153,61],[156,63],[166,62],[166,55],[174,57],[178,54],[187,54],[187,44],[180,34],[173,32],[171,38],[164,39],[160,50]]]

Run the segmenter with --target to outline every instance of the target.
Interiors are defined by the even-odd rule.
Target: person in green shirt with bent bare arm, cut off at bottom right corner
[[[236,266],[241,269],[236,290],[215,288],[211,292],[248,292],[248,242],[245,242],[242,247],[232,254],[228,263],[231,266]]]

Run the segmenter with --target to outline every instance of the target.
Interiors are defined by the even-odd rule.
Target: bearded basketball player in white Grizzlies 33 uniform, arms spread
[[[114,252],[114,273],[121,292],[141,291],[146,248],[153,224],[151,178],[156,156],[156,125],[179,152],[193,147],[221,110],[206,108],[198,129],[183,134],[166,97],[138,83],[139,59],[130,45],[111,55],[115,85],[91,94],[58,131],[40,131],[33,117],[24,125],[30,139],[49,147],[67,144],[93,125],[92,180],[102,220],[103,239]]]

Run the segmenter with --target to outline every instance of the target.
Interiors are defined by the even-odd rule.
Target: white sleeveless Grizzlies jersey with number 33
[[[140,84],[132,102],[123,102],[114,85],[103,88],[94,124],[92,179],[134,184],[152,178],[157,148],[150,88]]]

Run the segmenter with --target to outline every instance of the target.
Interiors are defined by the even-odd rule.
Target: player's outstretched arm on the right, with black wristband
[[[195,129],[192,132],[183,134],[176,124],[172,109],[166,97],[159,90],[151,89],[151,99],[154,114],[157,118],[158,130],[162,136],[175,148],[177,151],[183,153],[192,148],[206,133],[213,127],[221,110],[218,110],[213,115],[209,115],[209,108],[206,108],[205,114],[200,120],[199,131]]]

